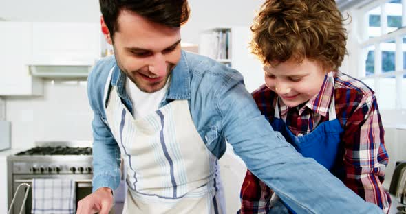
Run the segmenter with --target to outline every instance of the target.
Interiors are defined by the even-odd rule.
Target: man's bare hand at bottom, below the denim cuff
[[[78,202],[77,214],[108,214],[113,206],[113,194],[109,187],[101,187]]]

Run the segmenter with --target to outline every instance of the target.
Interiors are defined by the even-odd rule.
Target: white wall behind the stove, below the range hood
[[[86,82],[45,80],[43,96],[6,97],[13,148],[32,147],[35,141],[90,141],[92,118]]]

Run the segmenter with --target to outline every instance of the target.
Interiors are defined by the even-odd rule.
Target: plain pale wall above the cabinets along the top
[[[197,44],[199,32],[219,25],[250,25],[264,0],[189,0],[191,16],[182,41]],[[0,0],[0,18],[11,21],[98,22],[98,0]]]

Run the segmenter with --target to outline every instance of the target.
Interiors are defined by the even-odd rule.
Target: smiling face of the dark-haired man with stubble
[[[153,23],[123,10],[113,46],[118,67],[141,91],[153,93],[164,87],[180,60],[180,28]]]

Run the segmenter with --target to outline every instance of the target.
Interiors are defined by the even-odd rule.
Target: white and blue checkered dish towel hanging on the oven
[[[32,179],[32,214],[74,214],[74,180]]]

